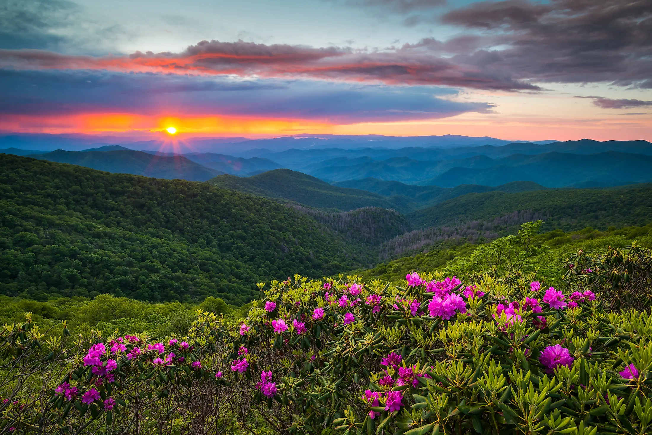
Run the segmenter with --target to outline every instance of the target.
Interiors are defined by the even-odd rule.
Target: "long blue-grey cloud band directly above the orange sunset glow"
[[[486,113],[494,105],[456,92],[324,81],[89,71],[1,71],[0,113],[186,113],[308,119],[337,124]]]

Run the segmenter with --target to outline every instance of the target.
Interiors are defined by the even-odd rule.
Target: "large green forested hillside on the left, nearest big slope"
[[[310,216],[267,199],[0,154],[7,296],[241,304],[263,277],[346,270],[358,261],[347,249]]]

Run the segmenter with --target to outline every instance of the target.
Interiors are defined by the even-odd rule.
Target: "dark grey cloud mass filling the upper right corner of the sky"
[[[484,47],[455,57],[460,63],[495,53],[493,64],[515,79],[652,87],[650,0],[481,2],[441,20],[483,36]]]

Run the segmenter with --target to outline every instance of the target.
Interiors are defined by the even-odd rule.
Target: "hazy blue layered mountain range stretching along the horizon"
[[[497,188],[503,184],[520,181],[534,182],[546,188],[602,188],[652,182],[652,143],[647,141],[598,142],[582,139],[460,147],[456,146],[456,141],[462,141],[464,137],[449,138],[452,143],[447,146],[440,143],[442,138],[342,136],[256,139],[236,144],[242,148],[241,156],[216,152],[179,154],[161,150],[138,151],[119,144],[80,151],[32,151],[29,155],[113,173],[196,181],[209,180],[222,174],[243,177],[285,168],[333,184],[365,178],[440,188],[454,188],[466,184]],[[383,144],[398,146],[399,139],[404,145],[438,143],[439,146],[378,147]],[[481,141],[489,141],[491,138],[468,140],[471,139],[482,143]],[[327,141],[331,145],[345,143],[349,148],[323,148],[321,145],[310,148],[309,142],[313,140]],[[269,148],[247,148],[246,143],[250,142],[261,147],[280,143],[287,145],[289,142],[302,145],[303,148],[272,152]],[[351,144],[370,143],[374,143],[373,148],[351,148]],[[276,148],[282,147],[278,145]],[[10,154],[26,154],[25,150],[18,148],[0,150],[3,151]],[[242,186],[246,184],[243,183]],[[259,185],[259,182],[252,183]],[[406,203],[396,203],[394,208],[407,210],[409,206]]]

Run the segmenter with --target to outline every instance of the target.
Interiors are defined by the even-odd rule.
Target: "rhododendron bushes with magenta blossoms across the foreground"
[[[261,283],[237,324],[200,313],[188,337],[96,337],[45,400],[8,398],[2,428],[257,433],[254,418],[293,434],[652,431],[646,309],[610,311],[581,280],[396,284],[295,276]]]

